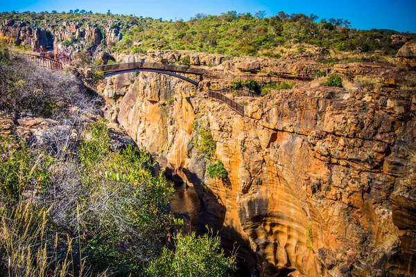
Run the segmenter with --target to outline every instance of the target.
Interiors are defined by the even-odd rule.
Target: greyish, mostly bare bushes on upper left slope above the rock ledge
[[[78,93],[79,81],[74,76],[51,71],[19,55],[0,51],[1,111],[29,111],[47,118],[82,98]]]

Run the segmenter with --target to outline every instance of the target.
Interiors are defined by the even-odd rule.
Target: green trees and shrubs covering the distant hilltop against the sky
[[[121,42],[103,46],[113,51],[141,53],[149,49],[190,50],[227,55],[253,55],[280,57],[279,46],[296,44],[314,45],[335,51],[371,52],[383,50],[388,55],[397,52],[392,44],[393,31],[356,30],[349,28],[344,19],[322,19],[315,15],[278,12],[272,17],[253,16],[250,12],[238,14],[235,11],[222,15],[198,14],[189,21],[164,21],[132,15],[91,13],[49,13],[49,12],[2,12],[0,20],[17,19],[28,21],[31,26],[49,28],[54,33],[63,30],[62,22],[77,22],[85,28],[97,24],[101,33],[104,26],[121,31]],[[69,42],[69,41],[68,41]],[[64,42],[65,45],[68,44]],[[73,43],[73,41],[70,41]],[[92,45],[87,44],[87,47]],[[296,53],[308,51],[305,46],[295,46]],[[281,48],[281,50],[284,50]],[[187,64],[186,60],[182,64]]]

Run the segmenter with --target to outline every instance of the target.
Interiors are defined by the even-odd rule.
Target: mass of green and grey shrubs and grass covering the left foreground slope
[[[154,176],[155,161],[135,146],[114,146],[107,122],[96,120],[98,100],[86,96],[73,77],[0,48],[0,80],[1,115],[33,112],[53,119],[44,120],[49,125],[42,134],[28,140],[13,135],[12,128],[1,132],[0,275],[157,272],[153,265],[166,260],[164,241],[171,226],[184,222],[171,215],[172,189],[163,173]],[[55,85],[48,87],[49,82]],[[31,98],[42,105],[20,101]],[[43,104],[45,98],[53,109]],[[202,138],[209,140],[207,132]],[[212,153],[215,142],[214,150],[209,142],[202,150]],[[235,267],[235,257],[219,250],[219,238],[178,236],[176,243],[179,253],[169,252],[175,272],[182,245],[194,246],[190,253],[200,262],[193,276],[226,276]]]

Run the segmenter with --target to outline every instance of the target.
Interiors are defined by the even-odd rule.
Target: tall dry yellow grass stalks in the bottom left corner
[[[36,210],[30,200],[22,200],[11,211],[1,207],[0,217],[0,261],[8,276],[64,277],[74,272],[72,240],[67,237],[62,255],[58,233],[53,238],[46,228],[49,210]],[[78,276],[83,276],[84,265]]]

